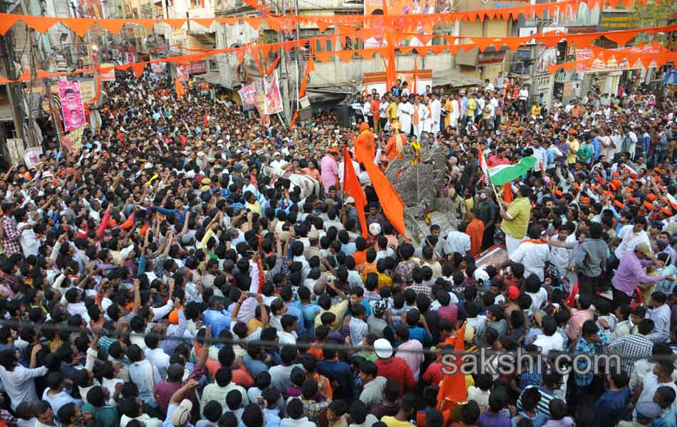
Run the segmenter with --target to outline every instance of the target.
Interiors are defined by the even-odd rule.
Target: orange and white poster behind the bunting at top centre
[[[435,0],[402,0],[402,1],[388,1],[386,4],[388,8],[388,15],[401,15],[407,16],[411,14],[435,14]],[[443,0],[439,0],[443,1]],[[378,16],[385,14],[383,11],[383,0],[365,0],[364,1],[364,14],[365,16]],[[410,33],[410,34],[433,34],[433,20],[423,20],[415,22],[413,19],[403,19],[402,21],[396,23],[396,28],[393,28],[394,31],[399,33]],[[371,26],[376,27],[378,24],[375,21],[371,21]],[[387,46],[387,42],[383,39],[383,35],[376,35],[364,41],[364,48],[381,48]],[[420,41],[415,36],[410,36],[404,38],[400,42],[400,45],[404,46],[430,46],[433,44],[431,38],[428,40]]]

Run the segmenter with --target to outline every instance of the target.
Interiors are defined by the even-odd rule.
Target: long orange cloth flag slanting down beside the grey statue
[[[371,186],[373,186],[373,189],[376,191],[378,200],[381,201],[383,214],[386,215],[386,218],[393,224],[393,228],[395,228],[398,233],[402,236],[406,236],[406,228],[404,226],[404,202],[400,198],[398,192],[393,188],[390,181],[388,181],[386,175],[384,175],[373,162],[374,136],[368,128],[366,130],[361,130],[360,136],[356,139],[355,154],[367,170],[369,179],[371,179]]]

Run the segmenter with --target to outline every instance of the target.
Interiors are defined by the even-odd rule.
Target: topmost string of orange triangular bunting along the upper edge
[[[253,1],[253,0],[252,0]],[[307,25],[316,23],[319,31],[325,31],[330,26],[336,27],[340,31],[350,31],[357,26],[373,26],[385,28],[388,31],[397,31],[403,28],[410,28],[418,23],[423,24],[443,24],[455,21],[485,21],[486,19],[518,19],[520,15],[542,17],[546,12],[553,16],[557,11],[576,11],[580,4],[586,4],[589,9],[596,7],[603,8],[608,5],[616,8],[619,4],[631,9],[635,2],[646,5],[648,0],[564,0],[559,3],[534,4],[526,6],[512,6],[501,9],[482,9],[474,11],[448,12],[442,14],[410,14],[410,15],[379,15],[365,16],[363,14],[355,15],[331,15],[331,16],[277,16],[264,13],[264,16],[236,16],[219,18],[190,18],[190,19],[95,19],[95,18],[56,18],[51,16],[26,16],[18,14],[0,14],[0,35],[4,35],[18,21],[23,21],[27,26],[38,31],[46,33],[56,23],[62,23],[70,28],[78,36],[85,36],[87,31],[93,26],[98,25],[110,33],[117,34],[125,26],[131,23],[143,26],[148,31],[153,29],[156,23],[165,23],[174,29],[180,29],[187,22],[196,23],[200,26],[210,28],[212,23],[219,22],[228,25],[235,25],[239,22],[247,23],[254,29],[258,29],[262,23],[267,23],[269,28],[274,31],[281,29],[291,30],[296,24]],[[248,4],[255,9],[262,11],[264,6],[261,4]]]

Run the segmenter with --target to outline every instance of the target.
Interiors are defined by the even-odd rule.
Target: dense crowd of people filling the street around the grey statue
[[[1,179],[0,423],[676,426],[675,102],[407,86],[288,128],[199,80],[105,83],[81,149]],[[395,231],[343,158],[372,132],[382,170],[445,148],[444,228]],[[493,189],[480,151],[537,162]]]

